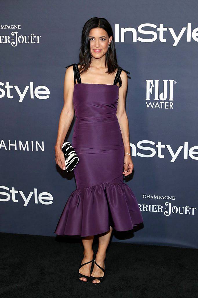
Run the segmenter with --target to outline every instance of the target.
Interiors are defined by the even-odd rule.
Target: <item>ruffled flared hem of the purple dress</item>
[[[110,226],[128,231],[142,222],[131,188],[126,183],[103,182],[71,193],[54,233],[86,237],[107,232]]]

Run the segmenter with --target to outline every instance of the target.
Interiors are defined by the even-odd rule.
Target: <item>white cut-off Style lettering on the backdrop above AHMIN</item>
[[[34,87],[34,83],[30,82],[30,85],[27,85],[24,90],[20,90],[19,87],[17,85],[10,85],[9,82],[6,82],[6,84],[0,82],[0,86],[3,86],[4,89],[0,88],[0,98],[6,97],[9,99],[13,99],[13,95],[11,93],[13,93],[13,89],[16,91],[17,93],[17,97],[18,97],[18,102],[22,103],[24,97],[29,96],[30,99],[34,99],[34,96],[38,99],[47,99],[49,98],[50,94],[50,90],[49,88],[47,88],[46,86],[37,86]],[[44,89],[44,90],[40,90],[40,89]],[[41,95],[41,94],[47,94],[47,95]]]

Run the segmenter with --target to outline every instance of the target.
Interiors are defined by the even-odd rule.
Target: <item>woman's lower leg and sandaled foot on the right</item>
[[[96,263],[99,266],[101,266],[102,268],[104,268],[104,260],[106,257],[106,250],[107,250],[107,246],[109,244],[110,238],[111,238],[112,231],[113,231],[113,228],[110,226],[110,230],[107,233],[98,237],[99,244],[98,244],[98,251],[96,253]],[[91,276],[102,277],[102,276],[104,276],[104,272],[98,266],[96,266],[96,264],[94,263],[94,268],[91,273]],[[100,281],[98,279],[95,279],[92,281],[92,283],[100,283]]]

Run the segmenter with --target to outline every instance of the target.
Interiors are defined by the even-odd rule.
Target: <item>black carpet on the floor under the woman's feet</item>
[[[0,240],[1,298],[198,297],[197,249],[111,242],[106,279],[95,286],[77,280],[79,239],[0,233]]]

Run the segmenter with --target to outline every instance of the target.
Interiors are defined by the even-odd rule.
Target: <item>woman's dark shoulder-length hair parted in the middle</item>
[[[89,32],[93,28],[103,28],[108,36],[112,36],[112,41],[110,42],[110,48],[108,48],[107,53],[105,54],[105,66],[107,64],[107,73],[114,73],[118,67],[117,57],[116,57],[116,50],[115,50],[115,42],[113,36],[113,30],[109,22],[105,18],[90,18],[83,26],[82,36],[81,36],[81,47],[79,53],[79,71],[80,74],[86,72],[91,64],[91,53],[90,53],[90,40],[89,40]],[[65,66],[65,68],[71,66],[72,64]],[[124,70],[124,69],[123,69]],[[130,74],[130,72],[126,73]]]

